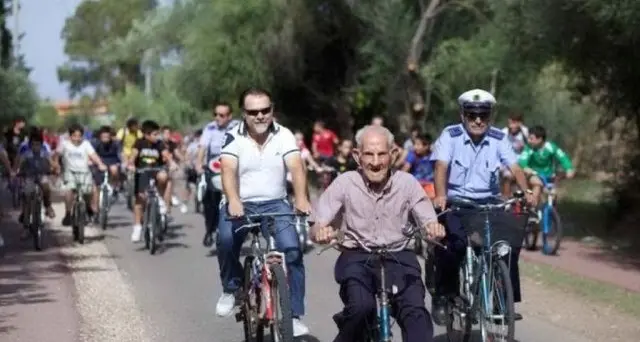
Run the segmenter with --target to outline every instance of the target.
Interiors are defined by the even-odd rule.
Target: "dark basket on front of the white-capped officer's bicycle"
[[[485,213],[462,214],[462,227],[473,247],[484,245]],[[489,213],[491,224],[491,243],[506,241],[512,248],[522,247],[527,216],[513,212],[495,211]]]

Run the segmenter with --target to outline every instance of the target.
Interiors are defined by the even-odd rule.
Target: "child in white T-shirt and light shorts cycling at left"
[[[92,194],[93,181],[91,170],[89,169],[89,161],[93,165],[97,165],[98,169],[105,171],[107,166],[104,165],[91,143],[84,139],[84,128],[78,124],[69,127],[69,139],[58,145],[58,164],[60,160],[64,164],[63,182],[65,194],[65,214],[62,219],[63,226],[71,225],[71,208],[73,208],[75,200],[75,190],[80,188],[83,196]],[[91,203],[90,209],[93,213],[98,212],[97,200],[91,199],[87,201]]]

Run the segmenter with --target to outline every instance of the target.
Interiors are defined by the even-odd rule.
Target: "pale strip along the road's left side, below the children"
[[[120,273],[106,245],[92,238],[102,235],[99,228],[87,227],[84,245],[72,242],[70,227],[62,227],[64,205],[54,204],[58,218],[50,224],[57,232],[76,288],[76,305],[82,317],[82,342],[148,342],[142,314],[131,286]]]

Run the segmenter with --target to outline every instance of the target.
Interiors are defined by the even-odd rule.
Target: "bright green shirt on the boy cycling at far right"
[[[569,156],[562,151],[558,145],[547,141],[538,149],[526,146],[520,157],[518,164],[522,168],[530,168],[538,175],[549,177],[555,173],[555,162],[566,171],[572,171],[573,165]]]

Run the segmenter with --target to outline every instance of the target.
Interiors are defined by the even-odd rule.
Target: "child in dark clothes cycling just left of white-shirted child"
[[[29,132],[28,144],[22,148],[16,156],[18,162],[18,172],[24,177],[24,185],[22,186],[23,199],[29,198],[36,186],[40,186],[42,191],[42,204],[45,207],[45,213],[48,217],[55,217],[53,208],[51,207],[51,186],[49,184],[49,173],[51,172],[51,151],[44,148],[44,137],[38,129],[32,129]],[[27,201],[22,201],[22,208],[18,220],[24,221],[24,213],[26,212]],[[25,227],[26,228],[26,227]],[[23,238],[28,237],[29,231],[24,230]]]

